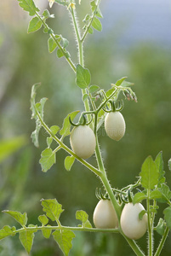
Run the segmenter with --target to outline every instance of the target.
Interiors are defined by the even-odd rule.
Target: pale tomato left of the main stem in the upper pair
[[[96,139],[88,125],[79,125],[71,131],[70,143],[77,156],[87,159],[94,154]]]

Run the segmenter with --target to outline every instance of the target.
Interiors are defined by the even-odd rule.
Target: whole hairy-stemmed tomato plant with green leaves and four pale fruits
[[[105,189],[105,198],[101,198],[95,207],[95,228],[92,227],[88,220],[88,214],[82,210],[76,212],[76,218],[81,221],[81,224],[78,226],[62,225],[60,223],[60,214],[64,210],[56,199],[41,200],[44,212],[43,215],[38,216],[38,221],[41,224],[27,224],[26,212],[5,210],[3,212],[13,217],[20,224],[20,228],[5,225],[0,230],[0,239],[19,234],[21,244],[25,247],[26,252],[30,253],[35,233],[41,230],[45,238],[53,236],[62,253],[68,255],[72,247],[72,240],[76,236],[76,231],[120,233],[136,255],[160,255],[164,242],[168,237],[168,232],[171,229],[171,191],[166,184],[162,152],[157,154],[155,160],[151,156],[145,159],[141,167],[140,177],[134,184],[129,184],[123,189],[116,189],[109,182],[100,151],[100,134],[98,131],[102,129],[104,123],[105,131],[111,139],[119,141],[125,133],[125,121],[120,113],[123,107],[121,107],[119,96],[123,95],[125,100],[132,99],[134,102],[137,102],[135,93],[131,88],[132,83],[128,82],[126,77],[118,79],[105,91],[99,85],[92,84],[91,77],[93,74],[84,66],[83,43],[88,33],[92,34],[94,30],[99,32],[102,30],[100,0],[90,2],[91,14],[85,15],[82,31],[78,28],[77,24],[77,6],[78,4],[82,6],[81,0],[78,3],[74,0],[48,0],[50,7],[54,3],[63,5],[71,15],[78,46],[77,64],[72,61],[71,54],[68,51],[68,40],[60,35],[60,33],[55,33],[48,25],[48,20],[54,18],[54,15],[51,15],[48,9],[45,9],[43,13],[40,12],[33,0],[18,0],[18,2],[20,7],[32,17],[28,26],[28,32],[36,32],[43,28],[43,32],[48,38],[49,53],[55,51],[58,58],[63,57],[66,59],[66,62],[73,71],[73,80],[76,80],[77,90],[81,90],[83,99],[84,110],[82,113],[80,111],[68,113],[61,128],[58,125],[48,126],[43,113],[47,98],[44,97],[37,102],[37,88],[40,84],[32,86],[31,119],[36,121],[35,131],[31,133],[32,142],[36,147],[39,146],[39,132],[41,129],[45,130],[48,134],[46,140],[47,147],[43,149],[39,160],[42,170],[43,172],[48,172],[55,164],[56,154],[58,154],[59,150],[63,149],[67,154],[64,160],[66,170],[71,170],[75,160],[86,166],[89,171],[99,178],[100,183]],[[111,110],[109,109],[110,107]],[[80,115],[79,122],[71,131],[71,126],[74,125],[73,122],[78,113]],[[67,136],[70,136],[71,147],[67,146]],[[53,142],[55,148],[52,148]],[[94,153],[96,159],[95,166],[92,165],[91,161],[86,160]],[[113,161],[113,166],[114,164]],[[171,160],[168,160],[168,168],[171,170]],[[124,170],[124,173],[128,175],[127,170]],[[130,195],[132,202],[130,202]],[[145,201],[146,209],[142,207],[141,201]],[[160,216],[158,212],[160,204],[166,206],[163,216]],[[156,219],[158,224],[155,226]],[[50,224],[48,224],[49,220]],[[52,224],[53,222],[55,222],[54,225]],[[140,245],[134,240],[145,235],[146,230],[148,244],[147,252],[144,253]],[[161,241],[157,248],[155,248],[155,251],[154,231],[161,236]]]

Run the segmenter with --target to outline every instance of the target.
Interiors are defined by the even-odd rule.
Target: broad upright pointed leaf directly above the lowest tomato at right
[[[141,185],[145,189],[154,189],[155,185],[157,185],[159,173],[157,172],[157,166],[151,156],[145,159],[141,167],[140,177]]]

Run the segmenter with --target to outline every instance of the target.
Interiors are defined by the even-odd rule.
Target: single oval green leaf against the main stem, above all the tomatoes
[[[84,68],[80,64],[77,64],[77,86],[79,86],[81,89],[85,89],[90,84],[90,81],[91,74],[89,73],[88,68]]]

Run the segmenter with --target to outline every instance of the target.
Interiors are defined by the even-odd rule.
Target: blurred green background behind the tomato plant
[[[83,1],[78,7],[81,20],[89,12],[88,3]],[[43,1],[41,5],[48,8],[48,1]],[[29,223],[38,224],[37,216],[43,214],[40,200],[56,198],[65,209],[61,215],[62,224],[77,225],[75,212],[80,209],[88,212],[93,223],[97,203],[94,192],[101,186],[99,180],[77,162],[71,172],[66,172],[64,151],[57,154],[57,163],[51,170],[43,173],[38,160],[46,147],[46,134],[44,131],[40,134],[40,148],[34,148],[30,138],[35,128],[30,111],[31,85],[41,82],[37,99],[48,97],[46,123],[61,127],[67,113],[83,110],[81,91],[75,84],[74,73],[64,59],[58,60],[55,54],[48,54],[46,34],[42,31],[26,33],[29,18],[18,7],[17,1],[1,2],[0,8],[0,209],[28,212]],[[102,4],[102,13],[103,10],[106,12],[105,3]],[[66,9],[57,5],[50,11],[56,19],[49,20],[49,25],[56,33],[69,39],[68,49],[77,63],[71,18],[67,16]],[[106,19],[105,16],[102,20],[104,27]],[[92,84],[108,90],[111,83],[128,76],[138,97],[138,103],[125,102],[123,115],[127,131],[119,143],[106,137],[103,127],[100,130],[105,168],[111,184],[121,189],[136,181],[149,154],[155,158],[162,150],[166,177],[171,187],[167,165],[171,157],[171,45],[169,49],[168,45],[158,45],[147,38],[125,47],[127,41],[121,43],[124,32],[128,33],[128,27],[120,18],[117,25],[111,23],[104,34],[94,32],[94,36],[88,36],[84,45],[85,65],[92,73]],[[89,161],[95,165],[94,158]],[[4,224],[15,223],[0,213],[0,226]],[[156,239],[159,241],[160,236]],[[169,239],[161,255],[170,255]],[[145,240],[145,237],[140,240],[143,249],[146,247]],[[18,237],[14,236],[1,241],[0,255],[26,254]],[[60,256],[62,253],[53,239],[45,241],[42,234],[37,233],[31,256],[39,255]],[[134,253],[121,236],[77,233],[70,255],[132,256]]]

